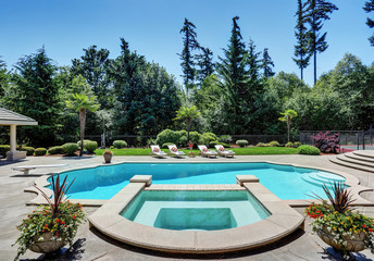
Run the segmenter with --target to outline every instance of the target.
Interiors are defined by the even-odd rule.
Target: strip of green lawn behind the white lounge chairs
[[[237,156],[245,154],[295,154],[297,149],[284,148],[284,147],[249,147],[249,148],[232,148]],[[151,149],[111,149],[114,156],[149,156]],[[167,149],[163,149],[167,153]],[[186,154],[188,150],[182,150]],[[199,150],[192,150],[195,153],[199,153]],[[95,153],[101,156],[104,149],[97,149]]]

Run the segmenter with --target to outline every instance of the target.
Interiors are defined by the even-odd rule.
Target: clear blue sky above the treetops
[[[319,75],[332,70],[347,52],[364,64],[373,62],[374,47],[367,41],[373,29],[365,25],[364,1],[333,2],[339,10],[323,27],[329,48],[317,55]],[[227,46],[232,18],[238,15],[245,41],[251,38],[258,51],[269,48],[275,72],[299,75],[291,59],[296,9],[296,0],[0,0],[0,55],[11,69],[22,55],[45,45],[58,65],[68,65],[91,45],[110,50],[115,58],[120,37],[124,37],[132,50],[182,82],[176,53],[183,48],[179,29],[184,18],[196,25],[198,41],[213,50],[217,60]],[[313,82],[313,64],[304,77]]]

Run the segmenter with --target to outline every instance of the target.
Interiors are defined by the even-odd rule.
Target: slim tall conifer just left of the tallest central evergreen
[[[183,51],[178,54],[182,63],[183,78],[186,88],[186,97],[188,99],[189,90],[194,88],[196,67],[194,61],[192,51],[199,48],[199,44],[196,39],[197,34],[195,32],[196,26],[185,18],[184,26],[182,27],[179,34],[183,34]]]

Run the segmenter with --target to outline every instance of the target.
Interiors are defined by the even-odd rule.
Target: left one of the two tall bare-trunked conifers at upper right
[[[303,70],[308,67],[311,58],[311,52],[309,50],[310,33],[306,27],[307,17],[304,14],[304,8],[306,4],[302,3],[302,0],[298,0],[298,11],[296,12],[297,24],[295,26],[297,45],[295,46],[295,58],[292,58],[292,60],[300,69],[301,79],[303,79]]]

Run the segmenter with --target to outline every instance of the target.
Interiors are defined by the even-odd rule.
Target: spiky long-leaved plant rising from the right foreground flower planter
[[[333,184],[329,183],[329,186],[333,188],[333,194],[329,191],[326,184],[324,184],[322,188],[325,191],[328,201],[333,206],[334,210],[338,213],[345,213],[347,210],[350,210],[356,199],[352,199],[352,195],[347,189],[347,186],[344,185],[344,183],[341,182],[334,182]],[[321,201],[325,201],[319,195],[314,194],[314,196]]]

